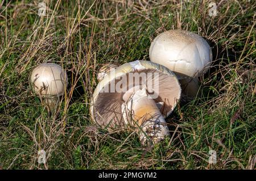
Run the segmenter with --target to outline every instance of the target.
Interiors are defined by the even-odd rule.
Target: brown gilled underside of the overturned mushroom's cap
[[[127,87],[133,86],[146,87],[148,93],[154,98],[155,103],[163,105],[160,108],[160,112],[166,116],[170,115],[177,100],[180,98],[180,86],[179,82],[177,82],[177,78],[155,69],[138,70],[136,73],[145,73],[146,79],[140,78],[138,82],[133,79],[131,83],[131,81],[129,81],[131,80],[130,76],[134,75],[126,73],[125,76],[117,77],[110,81],[108,85],[105,86],[109,87],[107,92],[100,92],[98,94],[93,103],[93,116],[98,124],[103,127],[108,126],[110,129],[123,127],[125,125],[122,112],[122,104],[125,102],[122,98],[123,94],[127,91]],[[149,77],[148,73],[150,73]],[[117,85],[119,81],[125,79],[126,81],[124,82],[126,82],[126,85],[121,84],[120,86],[122,91],[110,92],[111,85]]]

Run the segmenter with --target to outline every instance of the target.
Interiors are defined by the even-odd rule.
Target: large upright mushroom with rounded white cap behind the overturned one
[[[170,30],[151,43],[150,60],[176,73],[185,99],[193,99],[199,90],[198,78],[212,61],[212,50],[203,37],[184,30]]]

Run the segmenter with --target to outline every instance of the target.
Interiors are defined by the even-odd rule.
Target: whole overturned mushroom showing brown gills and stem
[[[101,127],[111,130],[130,125],[143,145],[155,144],[170,135],[163,115],[170,115],[180,94],[179,81],[171,70],[137,60],[105,75],[93,93],[90,113]]]

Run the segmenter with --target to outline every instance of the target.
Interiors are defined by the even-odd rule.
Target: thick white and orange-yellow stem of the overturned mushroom
[[[139,139],[143,145],[156,144],[170,136],[166,120],[145,88],[131,95],[126,101],[126,110],[131,113],[129,120],[132,120],[132,125],[139,128]]]

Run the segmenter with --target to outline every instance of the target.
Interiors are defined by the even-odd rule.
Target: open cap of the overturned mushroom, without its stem
[[[137,75],[141,76],[139,81],[133,78]],[[160,112],[166,116],[170,115],[180,99],[180,84],[171,70],[150,61],[129,62],[110,71],[98,83],[90,107],[93,120],[109,128],[123,126],[123,95],[133,86],[146,87],[155,103],[163,104]]]

